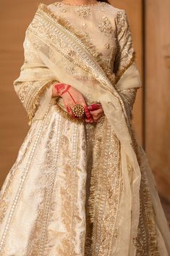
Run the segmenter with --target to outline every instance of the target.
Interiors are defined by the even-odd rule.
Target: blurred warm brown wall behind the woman
[[[54,1],[43,1],[51,4]],[[0,9],[0,187],[14,164],[29,126],[13,81],[23,62],[27,25],[40,1],[1,0]],[[148,154],[166,212],[170,202],[170,1],[112,0],[126,9],[143,88],[137,91],[134,123]]]

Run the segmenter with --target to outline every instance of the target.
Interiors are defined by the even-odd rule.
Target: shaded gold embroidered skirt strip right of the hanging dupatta
[[[137,161],[141,170],[140,182],[140,220],[137,237],[134,237],[133,244],[137,248],[137,256],[160,256],[158,251],[158,241],[156,234],[156,216],[151,203],[148,181],[146,178],[142,154],[140,153],[140,144],[137,143],[137,134],[132,127],[133,148],[137,155]]]

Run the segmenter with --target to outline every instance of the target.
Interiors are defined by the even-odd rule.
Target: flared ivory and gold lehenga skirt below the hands
[[[120,142],[105,115],[88,124],[58,110],[51,104],[43,120],[33,121],[1,188],[0,255],[122,256],[120,243],[128,248],[129,237],[122,243],[119,230]],[[156,224],[161,204],[153,209],[149,186],[154,184],[148,184],[145,160],[143,155],[133,255],[167,256],[167,239]],[[128,176],[132,180],[131,165]]]

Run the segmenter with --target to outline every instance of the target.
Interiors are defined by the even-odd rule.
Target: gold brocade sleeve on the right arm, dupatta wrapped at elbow
[[[124,9],[120,9],[117,12],[115,23],[116,56],[114,59],[114,73],[116,74],[116,89],[124,101],[127,115],[132,119],[132,108],[135,102],[137,88],[140,88],[142,84],[135,63],[132,33],[129,28],[127,13]],[[137,79],[132,82],[130,78],[135,76]]]

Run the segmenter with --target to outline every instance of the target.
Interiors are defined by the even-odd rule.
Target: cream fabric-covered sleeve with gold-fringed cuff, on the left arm
[[[30,125],[35,112],[38,110],[42,96],[48,94],[50,100],[52,95],[51,87],[57,80],[54,79],[50,70],[38,57],[38,47],[33,45],[27,32],[23,46],[25,61],[20,69],[20,77],[14,80],[13,86],[27,111],[28,124]],[[44,99],[47,98],[44,97]]]

